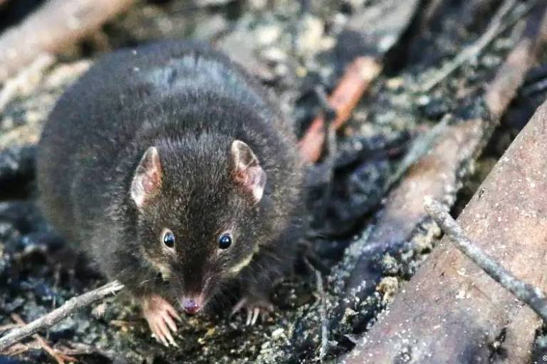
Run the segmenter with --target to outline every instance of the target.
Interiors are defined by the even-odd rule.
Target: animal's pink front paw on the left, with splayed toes
[[[158,342],[162,342],[165,346],[169,344],[177,346],[171,331],[177,331],[174,319],[178,321],[181,319],[169,302],[157,295],[146,297],[142,302],[142,314]]]

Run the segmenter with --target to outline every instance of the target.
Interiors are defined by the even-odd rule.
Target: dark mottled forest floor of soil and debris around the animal
[[[92,262],[53,234],[35,205],[35,144],[56,99],[101,53],[155,39],[192,38],[213,43],[270,87],[299,136],[321,113],[318,87],[330,93],[358,55],[381,60],[382,72],[338,132],[332,178],[310,186],[311,228],[306,241],[298,242],[295,273],[276,288],[276,309],[265,321],[246,326],[242,315],[206,312],[184,319],[177,348],[156,343],[123,294],[78,312],[43,337],[80,363],[316,363],[351,350],[405,289],[440,235],[427,218],[404,236],[405,227],[393,223],[383,237],[390,244],[370,252],[368,287],[361,287],[358,299],[342,303],[351,295],[346,287],[371,226],[390,213],[388,193],[405,178],[416,146],[430,146],[436,126],[452,122],[446,115],[488,118],[479,95],[525,24],[516,18],[476,58],[424,91],[444,60],[484,33],[495,1],[475,7],[469,4],[476,1],[452,1],[434,16],[415,6],[392,6],[382,11],[396,13],[394,18],[378,18],[379,4],[396,2],[138,1],[66,50],[0,110],[0,329],[11,327],[13,314],[31,321],[106,282]],[[418,8],[426,3],[415,1]],[[433,18],[429,23],[427,16]],[[540,59],[545,65],[547,53]],[[547,72],[541,67],[533,72],[499,126],[484,132],[475,152],[450,171],[454,182],[442,198],[454,214],[545,100],[547,87],[538,82]],[[325,173],[323,167],[311,166],[310,176]],[[14,358],[0,356],[0,363],[55,363],[34,341],[10,350]]]

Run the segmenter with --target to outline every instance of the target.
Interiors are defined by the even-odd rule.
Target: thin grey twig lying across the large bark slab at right
[[[498,262],[481,250],[478,245],[469,240],[465,235],[464,230],[462,230],[452,216],[447,213],[441,203],[426,197],[424,199],[424,205],[427,213],[429,213],[435,223],[437,223],[442,231],[450,237],[450,240],[452,240],[454,245],[463,252],[464,255],[467,255],[467,257],[481,267],[486,274],[492,277],[496,282],[499,282],[501,286],[514,294],[516,298],[530,306],[533,311],[536,311],[536,314],[543,319],[543,322],[547,322],[547,298],[541,289],[514,277],[511,272],[507,271],[504,267],[501,267]]]

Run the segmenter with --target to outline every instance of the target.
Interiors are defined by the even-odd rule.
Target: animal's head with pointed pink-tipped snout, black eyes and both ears
[[[258,250],[266,172],[240,140],[203,136],[150,146],[130,196],[142,255],[195,314]]]

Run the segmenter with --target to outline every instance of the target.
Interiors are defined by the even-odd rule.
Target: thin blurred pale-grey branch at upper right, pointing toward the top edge
[[[447,78],[449,75],[451,75],[455,70],[460,68],[464,63],[467,63],[472,58],[476,58],[484,48],[486,48],[487,45],[489,45],[494,39],[496,39],[499,34],[503,33],[509,26],[511,26],[514,22],[519,20],[521,16],[526,14],[526,11],[531,9],[531,7],[528,7],[526,11],[523,11],[522,14],[519,14],[519,16],[516,16],[515,18],[511,19],[511,21],[508,21],[504,24],[503,19],[504,17],[509,14],[509,11],[514,8],[516,5],[516,0],[505,0],[503,4],[499,7],[498,11],[492,18],[492,20],[489,23],[488,28],[486,29],[486,32],[480,36],[479,39],[477,39],[474,43],[467,46],[462,50],[462,52],[458,53],[454,59],[450,60],[449,62],[445,63],[442,68],[439,70],[437,75],[435,75],[432,80],[427,82],[421,89],[422,92],[429,92],[433,87],[439,85],[442,80]]]

